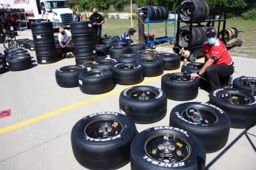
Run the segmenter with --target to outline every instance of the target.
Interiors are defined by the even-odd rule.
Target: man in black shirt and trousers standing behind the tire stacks
[[[89,20],[93,21],[95,44],[100,44],[102,40],[102,24],[105,22],[105,20],[100,13],[97,13],[96,7],[93,8],[93,14],[90,16]]]

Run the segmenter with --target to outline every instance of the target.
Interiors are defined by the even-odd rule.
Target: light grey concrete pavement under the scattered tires
[[[18,38],[32,38],[30,30],[18,33]],[[169,47],[157,47],[170,51]],[[0,44],[0,52],[4,47]],[[36,53],[30,52],[33,60]],[[235,72],[256,77],[256,59],[232,56]],[[200,58],[198,62],[203,62]],[[62,88],[56,84],[55,71],[75,64],[74,58],[65,58],[53,64],[36,64],[33,68],[0,75],[0,111],[10,109],[10,116],[0,118],[1,170],[70,170],[85,169],[73,156],[70,131],[81,118],[96,112],[119,112],[119,94],[128,86],[116,85],[111,92],[87,95],[79,87]],[[182,63],[181,63],[182,65]],[[180,69],[165,71],[180,72]],[[161,87],[161,77],[145,78],[137,85]],[[191,101],[209,101],[208,92],[199,89]],[[136,124],[142,132],[154,126],[168,126],[171,109],[184,101],[168,100],[165,118],[156,123]],[[255,111],[256,114],[256,111]],[[95,151],[96,152],[96,151]],[[256,127],[230,129],[229,140],[223,149],[206,154],[206,169],[256,169]],[[109,155],[111,157],[111,155]],[[130,163],[120,168],[128,170]]]

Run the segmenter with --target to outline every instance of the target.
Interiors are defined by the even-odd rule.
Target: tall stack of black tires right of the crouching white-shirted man
[[[72,22],[70,23],[70,29],[76,65],[90,66],[91,62],[97,59],[93,21]]]

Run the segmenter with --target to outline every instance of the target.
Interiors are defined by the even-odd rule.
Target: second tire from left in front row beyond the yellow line
[[[81,72],[79,78],[79,89],[85,94],[101,94],[114,88],[113,73],[106,69],[91,69]]]

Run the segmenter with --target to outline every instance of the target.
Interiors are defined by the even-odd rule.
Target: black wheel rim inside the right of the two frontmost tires
[[[157,135],[145,142],[146,153],[163,163],[178,163],[191,153],[191,147],[177,135]]]

